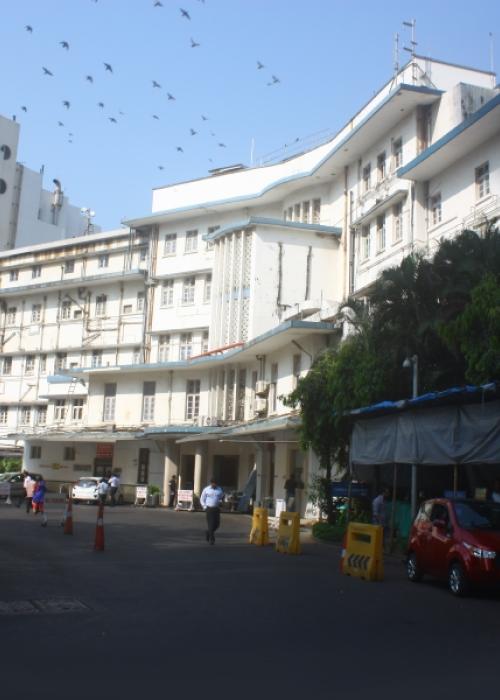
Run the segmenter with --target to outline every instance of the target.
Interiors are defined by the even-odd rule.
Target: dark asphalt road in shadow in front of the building
[[[252,547],[238,515],[223,516],[211,547],[200,513],[108,508],[106,550],[95,552],[96,508],[75,515],[70,537],[0,504],[0,604],[86,606],[0,615],[2,695],[498,696],[496,597],[412,585],[397,561],[383,583],[343,577],[335,547],[309,541],[299,557]]]

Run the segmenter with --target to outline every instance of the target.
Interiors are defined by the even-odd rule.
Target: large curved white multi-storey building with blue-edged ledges
[[[415,58],[327,143],[159,188],[130,233],[1,255],[2,359],[17,375],[0,419],[26,467],[63,482],[118,469],[129,488],[175,473],[197,493],[211,473],[241,489],[256,469],[259,501],[290,473],[307,483],[316,457],[282,397],[339,341],[350,294],[498,216],[499,116],[494,75]],[[43,287],[10,276],[37,265]],[[58,368],[42,382],[43,355]]]

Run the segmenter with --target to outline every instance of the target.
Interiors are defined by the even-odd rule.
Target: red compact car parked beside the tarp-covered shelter
[[[471,585],[500,590],[500,503],[434,498],[420,507],[406,560],[410,581],[424,574],[466,595]]]

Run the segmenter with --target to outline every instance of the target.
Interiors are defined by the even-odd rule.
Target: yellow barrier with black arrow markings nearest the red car
[[[344,574],[365,581],[384,579],[383,533],[381,525],[349,523],[342,555]]]

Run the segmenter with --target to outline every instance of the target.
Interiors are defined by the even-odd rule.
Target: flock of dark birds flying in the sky
[[[98,0],[92,0],[92,2],[97,3]],[[204,3],[205,3],[205,0],[198,0],[198,2],[201,2],[201,3],[204,4]],[[161,2],[161,0],[155,0],[155,1],[153,2],[153,7],[154,7],[154,8],[162,8],[162,7],[163,7],[163,3]],[[179,8],[179,13],[180,13],[181,19],[184,19],[184,20],[186,20],[186,21],[191,22],[191,14],[188,12],[188,10],[186,10],[186,9],[184,9],[184,8],[182,8],[182,7],[180,7],[180,8]],[[33,32],[34,32],[34,28],[33,28],[33,26],[32,26],[31,24],[26,24],[25,27],[24,27],[24,29],[25,29],[25,31],[26,31],[28,34],[33,34]],[[65,39],[62,39],[62,40],[59,42],[59,45],[60,45],[60,47],[61,47],[64,51],[70,51],[70,43],[69,43],[69,41],[67,41],[67,40],[65,40]],[[190,37],[190,47],[191,47],[191,49],[198,49],[198,48],[201,47],[201,43],[200,43],[199,41],[196,41],[193,37]],[[107,61],[103,61],[103,62],[102,62],[102,65],[103,65],[104,73],[109,73],[109,74],[111,74],[111,75],[114,74],[113,65],[112,65],[111,63],[109,63],[109,62],[107,62]],[[261,61],[257,60],[257,61],[256,61],[256,69],[257,69],[257,71],[262,71],[262,70],[266,69],[266,66],[265,66]],[[43,75],[44,75],[45,77],[53,78],[54,75],[55,75],[54,71],[51,70],[50,68],[48,68],[47,66],[42,66],[42,67],[41,67],[41,70],[42,70],[42,73],[43,73]],[[92,84],[94,83],[94,76],[93,76],[93,75],[90,75],[90,74],[87,74],[87,75],[84,76],[84,80],[85,80],[87,83],[89,83],[89,84],[92,85]],[[267,85],[268,87],[273,87],[273,86],[278,85],[280,82],[281,82],[280,78],[279,78],[278,76],[272,74],[271,77],[270,77],[270,79],[266,82],[266,85]],[[155,80],[155,79],[152,79],[152,80],[151,80],[151,86],[152,86],[152,89],[153,89],[153,90],[162,90],[162,89],[163,89],[163,88],[162,88],[162,85],[161,85],[157,80]],[[176,101],[175,95],[173,95],[171,92],[165,91],[165,95],[166,95],[166,98],[167,98],[167,102],[175,102],[175,101]],[[64,109],[66,109],[66,110],[68,110],[68,111],[71,109],[71,101],[70,101],[70,100],[68,100],[68,99],[63,99],[63,100],[61,100],[61,104],[62,104],[62,107],[63,107]],[[104,109],[105,109],[105,103],[102,102],[102,101],[97,102],[97,103],[96,103],[96,106],[98,107],[99,110],[104,110]],[[27,105],[22,105],[22,106],[21,106],[21,110],[22,110],[23,112],[28,112],[28,106],[27,106]],[[119,111],[119,112],[118,112],[118,115],[119,115],[120,117],[125,117],[125,113],[122,112],[122,111]],[[159,116],[158,114],[152,114],[151,117],[152,117],[152,119],[154,119],[155,121],[160,121],[160,119],[161,119],[160,116]],[[118,124],[118,121],[119,121],[119,119],[118,119],[116,116],[107,116],[107,119],[108,119],[108,121],[109,121],[111,124]],[[207,117],[205,114],[202,114],[202,115],[201,115],[201,121],[202,121],[202,122],[209,121],[209,117]],[[58,120],[58,121],[57,121],[57,125],[58,125],[58,127],[60,127],[60,128],[65,128],[65,124],[64,124],[64,122],[61,121],[61,120]],[[194,137],[194,136],[196,136],[197,134],[198,134],[197,129],[195,129],[195,128],[193,128],[193,127],[190,127],[190,129],[189,129],[189,135],[190,135],[191,137]],[[216,134],[215,134],[213,131],[210,131],[210,135],[211,135],[212,137],[214,137],[214,138],[217,138],[217,137],[216,137]],[[73,133],[72,133],[72,132],[68,132],[67,136],[68,136],[68,143],[73,143],[73,136],[74,136]],[[227,147],[226,144],[224,143],[224,141],[221,141],[221,140],[218,140],[218,139],[217,139],[216,142],[217,142],[218,148],[226,148],[226,147]],[[175,150],[176,150],[177,153],[184,153],[184,148],[183,148],[182,145],[176,145],[176,146],[175,146]],[[213,162],[213,159],[212,159],[212,158],[209,158],[208,160],[209,160],[209,162],[211,162],[211,163]],[[157,167],[158,167],[159,170],[164,170],[164,165],[158,165]]]

